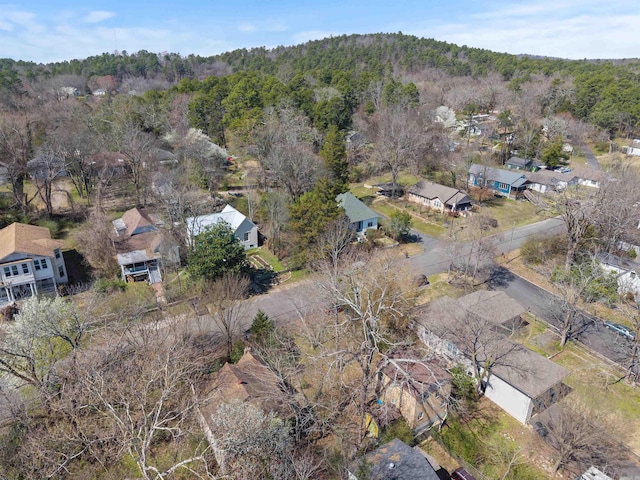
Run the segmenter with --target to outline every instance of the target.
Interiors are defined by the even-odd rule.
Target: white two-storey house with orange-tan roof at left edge
[[[0,305],[68,283],[63,244],[45,227],[12,223],[0,230]]]

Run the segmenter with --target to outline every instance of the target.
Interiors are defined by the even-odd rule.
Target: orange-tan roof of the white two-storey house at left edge
[[[53,257],[53,251],[63,245],[62,240],[51,238],[46,227],[16,222],[0,230],[0,260],[14,253]]]

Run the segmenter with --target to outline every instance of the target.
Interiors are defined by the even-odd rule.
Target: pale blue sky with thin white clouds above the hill
[[[215,55],[402,32],[496,52],[640,57],[639,0],[0,0],[0,58]]]

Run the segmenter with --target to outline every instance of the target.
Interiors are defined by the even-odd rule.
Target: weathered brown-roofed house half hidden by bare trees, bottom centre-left
[[[245,349],[238,363],[225,363],[204,382],[198,394],[201,402],[196,415],[221,468],[225,465],[226,453],[219,447],[216,432],[210,427],[208,419],[211,414],[219,405],[238,400],[251,403],[264,412],[276,412],[283,420],[292,418],[294,412],[280,385],[280,379],[250,348]]]

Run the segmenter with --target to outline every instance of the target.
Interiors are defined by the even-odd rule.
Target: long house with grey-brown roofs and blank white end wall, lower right
[[[562,380],[569,372],[511,342],[509,334],[520,324],[524,309],[505,297],[504,292],[474,292],[457,300],[441,297],[417,310],[413,327],[425,345],[452,365],[460,364],[473,372],[465,336],[474,328],[466,325],[483,325],[471,334],[477,335],[473,341],[480,345],[475,360],[483,365],[493,362],[486,376],[479,379],[484,394],[518,421],[528,423],[566,393]]]

